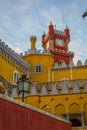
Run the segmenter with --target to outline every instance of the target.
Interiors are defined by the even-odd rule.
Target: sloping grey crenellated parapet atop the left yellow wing
[[[9,63],[14,64],[16,67],[21,68],[23,71],[29,71],[29,64],[25,62],[17,53],[14,52],[5,42],[0,40],[0,55],[5,58]]]

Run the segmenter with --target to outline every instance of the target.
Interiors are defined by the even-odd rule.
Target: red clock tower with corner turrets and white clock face
[[[52,22],[48,27],[48,33],[42,35],[42,46],[45,52],[50,52],[54,55],[54,63],[61,66],[65,63],[67,66],[70,60],[73,59],[74,53],[68,51],[70,41],[70,32],[68,27],[64,31],[54,29]]]

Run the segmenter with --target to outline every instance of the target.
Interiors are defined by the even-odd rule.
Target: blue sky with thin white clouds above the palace
[[[30,47],[31,35],[37,37],[41,48],[41,35],[47,33],[52,21],[56,29],[70,29],[69,50],[75,54],[74,63],[87,59],[87,0],[0,0],[0,38],[16,52]]]

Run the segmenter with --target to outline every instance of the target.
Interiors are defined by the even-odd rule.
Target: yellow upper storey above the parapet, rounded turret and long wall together
[[[31,82],[38,81],[44,82],[55,82],[60,81],[62,78],[69,80],[86,79],[87,78],[87,67],[73,67],[65,69],[53,70],[53,56],[43,54],[31,54],[23,57],[31,66]],[[35,73],[35,64],[42,64],[42,72]]]

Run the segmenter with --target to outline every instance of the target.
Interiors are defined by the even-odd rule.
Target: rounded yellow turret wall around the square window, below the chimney
[[[31,70],[31,82],[48,82],[48,70],[53,67],[53,56],[52,55],[44,55],[44,54],[31,54],[23,57],[25,61],[30,64]],[[34,67],[37,64],[42,65],[42,72],[35,73]],[[44,78],[43,78],[44,77]]]

